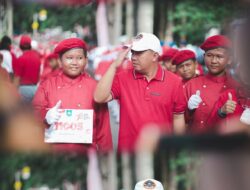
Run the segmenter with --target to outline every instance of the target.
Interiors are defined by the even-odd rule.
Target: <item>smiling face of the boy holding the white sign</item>
[[[83,49],[71,49],[65,52],[60,60],[63,72],[71,78],[79,76],[87,64]]]

